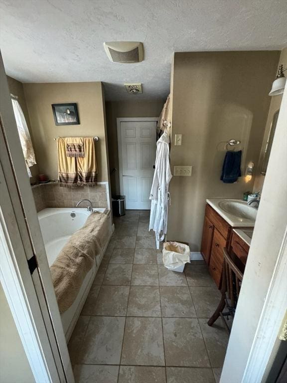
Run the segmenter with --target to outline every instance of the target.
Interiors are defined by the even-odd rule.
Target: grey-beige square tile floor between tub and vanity
[[[175,273],[148,232],[149,211],[127,211],[68,345],[76,383],[219,382],[228,334],[207,320],[220,294],[204,262]]]

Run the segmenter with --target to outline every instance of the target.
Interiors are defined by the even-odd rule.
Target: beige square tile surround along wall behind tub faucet
[[[55,184],[32,187],[37,212],[45,207],[76,207],[80,199],[88,198],[93,207],[109,207],[106,184],[94,187],[60,188]]]

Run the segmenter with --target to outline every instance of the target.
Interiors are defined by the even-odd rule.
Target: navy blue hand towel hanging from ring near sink
[[[226,153],[220,177],[220,180],[225,184],[233,184],[238,177],[241,177],[241,154],[241,150]]]

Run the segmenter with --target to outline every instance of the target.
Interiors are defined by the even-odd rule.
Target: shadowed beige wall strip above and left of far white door
[[[111,175],[111,189],[113,194],[120,193],[117,118],[158,117],[163,108],[163,104],[164,100],[106,102],[110,169],[117,169],[117,171]]]

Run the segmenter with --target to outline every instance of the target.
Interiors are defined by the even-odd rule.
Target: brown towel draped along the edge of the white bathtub
[[[50,267],[61,314],[75,301],[85,276],[105,247],[108,237],[108,216],[100,212],[91,213]]]

